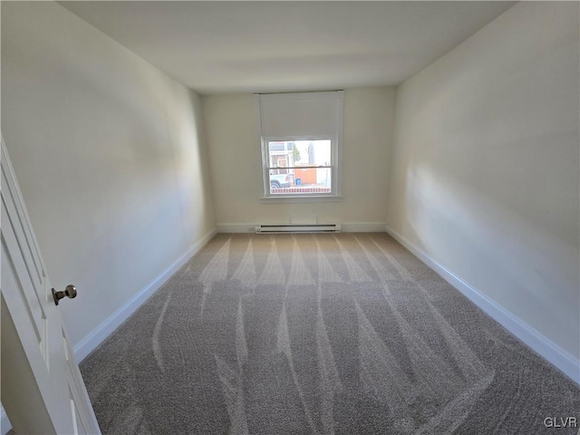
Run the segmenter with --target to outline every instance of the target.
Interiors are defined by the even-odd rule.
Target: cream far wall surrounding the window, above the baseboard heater
[[[384,223],[395,89],[347,89],[343,103],[343,200],[264,204],[260,202],[264,196],[262,164],[252,95],[204,96],[203,118],[218,226],[287,223],[292,218]]]

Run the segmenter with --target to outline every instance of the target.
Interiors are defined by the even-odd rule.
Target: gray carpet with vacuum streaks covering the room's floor
[[[575,434],[543,421],[580,417],[574,382],[379,233],[218,235],[81,370],[104,434]]]

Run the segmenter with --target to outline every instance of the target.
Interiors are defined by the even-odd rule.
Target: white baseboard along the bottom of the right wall
[[[419,257],[423,263],[430,266],[431,269],[437,272],[450,285],[453,285],[459,292],[468,297],[471,302],[478,305],[479,308],[498,322],[498,324],[501,324],[507,331],[516,335],[518,339],[526,343],[536,353],[540,354],[548,362],[554,364],[573,381],[580,384],[580,360],[575,358],[574,355],[566,352],[559,345],[546,338],[542,333],[537,332],[529,324],[526,324],[516,315],[507,311],[502,305],[490,299],[472,285],[469,285],[445,266],[440,265],[440,263],[431,258],[420,247],[413,244],[408,238],[402,236],[389,226],[385,226],[385,229],[403,247],[406,247],[411,253]]]

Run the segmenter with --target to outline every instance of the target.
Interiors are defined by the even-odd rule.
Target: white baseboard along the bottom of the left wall
[[[77,362],[82,360],[92,353],[96,347],[101,344],[111,333],[117,329],[129,316],[140,307],[150,295],[153,295],[161,285],[164,285],[169,278],[174,275],[181,266],[185,265],[192,256],[195,256],[199,249],[204,247],[211,237],[216,234],[216,228],[208,232],[204,237],[200,238],[192,247],[190,247],[185,254],[179,256],[167,269],[165,269],[157,278],[155,278],[149,285],[146,285],[137,295],[134,295],[129,302],[122,305],[117,311],[106,319],[102,324],[97,326],[91,333],[84,337],[80,343],[74,346],[74,356]]]

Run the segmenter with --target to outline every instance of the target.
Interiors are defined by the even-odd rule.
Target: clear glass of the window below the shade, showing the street
[[[269,141],[270,194],[331,193],[331,161],[330,140]]]

